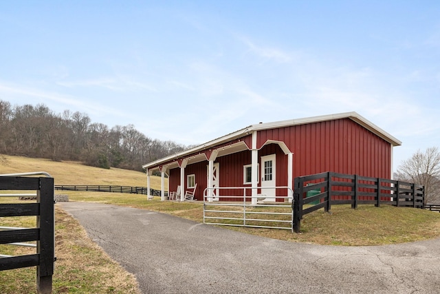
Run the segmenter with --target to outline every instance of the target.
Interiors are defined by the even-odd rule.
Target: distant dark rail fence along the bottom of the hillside
[[[94,191],[94,192],[111,192],[111,193],[130,193],[147,195],[146,187],[130,187],[130,186],[111,186],[111,185],[56,185],[55,190],[61,191]],[[167,192],[165,192],[168,195]],[[150,189],[150,195],[160,196],[160,191]]]

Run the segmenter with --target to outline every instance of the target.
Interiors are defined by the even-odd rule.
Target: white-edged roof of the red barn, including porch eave
[[[222,136],[220,138],[210,140],[207,143],[201,144],[199,146],[181,151],[177,154],[173,154],[170,156],[166,156],[164,158],[155,160],[153,162],[149,162],[146,165],[142,165],[143,169],[155,169],[159,168],[160,165],[167,164],[168,167],[171,167],[173,165],[177,166],[177,161],[175,164],[170,163],[173,162],[173,160],[177,160],[178,158],[188,158],[190,157],[190,162],[199,162],[206,160],[206,156],[204,154],[199,154],[201,151],[205,151],[207,149],[210,149],[217,145],[223,145],[225,143],[228,143],[232,140],[236,140],[239,138],[242,138],[244,136],[248,136],[249,134],[252,134],[254,131],[261,131],[265,129],[276,129],[279,127],[289,127],[294,125],[305,125],[307,123],[319,123],[322,121],[327,120],[338,120],[343,118],[350,118],[351,120],[355,121],[355,123],[358,123],[359,125],[362,125],[362,127],[365,127],[366,129],[369,129],[369,131],[373,132],[373,134],[379,136],[380,138],[386,140],[386,142],[390,143],[392,146],[399,146],[401,145],[401,141],[395,138],[394,136],[391,136],[391,134],[388,134],[380,127],[377,127],[377,125],[371,123],[371,121],[367,120],[363,116],[360,116],[357,112],[344,112],[340,114],[329,114],[324,116],[313,116],[309,118],[298,118],[298,119],[292,119],[292,120],[281,120],[273,123],[259,123],[256,125],[250,125],[248,127],[245,127],[243,129],[239,129],[236,132],[227,134],[225,136]],[[222,147],[224,150],[224,147]],[[231,154],[238,151],[245,150],[245,143],[242,144],[234,144],[232,145],[229,150],[224,152],[222,155]],[[197,155],[195,155],[197,154]],[[220,156],[220,154],[219,154]],[[191,158],[192,157],[192,158]]]

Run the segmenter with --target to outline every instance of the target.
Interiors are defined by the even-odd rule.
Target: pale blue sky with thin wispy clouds
[[[205,143],[355,111],[440,147],[439,1],[0,1],[0,99]],[[141,164],[146,162],[140,162]]]

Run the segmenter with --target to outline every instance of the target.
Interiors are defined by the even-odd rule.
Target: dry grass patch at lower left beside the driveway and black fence
[[[2,218],[2,225],[35,226],[35,217]],[[74,218],[56,207],[57,260],[53,293],[140,293],[135,277],[111,260]],[[30,254],[35,249],[3,245],[3,254]],[[6,252],[6,253],[5,253]],[[36,293],[36,268],[0,271],[0,293]]]

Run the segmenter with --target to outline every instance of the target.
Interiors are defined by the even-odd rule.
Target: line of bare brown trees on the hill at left
[[[173,141],[148,138],[133,125],[109,128],[87,114],[52,112],[43,104],[0,100],[0,154],[75,160],[94,167],[142,171],[141,165],[183,151]]]

